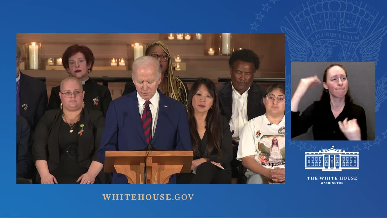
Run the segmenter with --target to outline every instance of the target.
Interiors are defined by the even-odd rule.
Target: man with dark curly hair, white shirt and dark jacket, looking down
[[[266,112],[262,104],[265,90],[253,83],[255,72],[259,68],[259,58],[252,50],[242,49],[233,52],[228,63],[231,81],[220,87],[218,93],[221,113],[228,119],[233,137],[234,155],[231,168],[235,178],[240,164],[236,161],[236,152],[241,131],[247,121]]]

